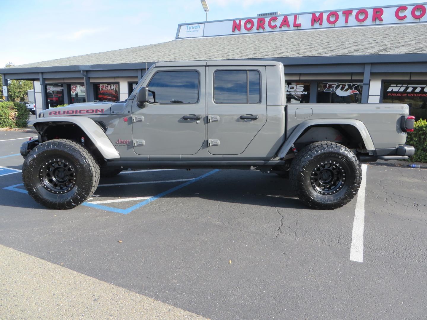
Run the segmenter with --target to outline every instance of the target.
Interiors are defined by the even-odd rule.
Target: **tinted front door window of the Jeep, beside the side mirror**
[[[149,101],[160,104],[196,103],[199,100],[197,71],[159,71],[148,84]]]

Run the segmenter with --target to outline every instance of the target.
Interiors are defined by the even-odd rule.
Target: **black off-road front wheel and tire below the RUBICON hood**
[[[24,160],[28,194],[49,209],[71,209],[87,200],[99,183],[99,165],[84,147],[67,139],[37,145]]]

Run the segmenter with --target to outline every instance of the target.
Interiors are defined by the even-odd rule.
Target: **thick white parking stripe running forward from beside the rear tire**
[[[362,183],[357,192],[356,209],[354,210],[353,233],[351,235],[350,260],[363,262],[363,229],[365,226],[365,189],[366,169],[368,166],[362,164]]]

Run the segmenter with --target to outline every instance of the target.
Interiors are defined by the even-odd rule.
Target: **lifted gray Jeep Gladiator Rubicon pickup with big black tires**
[[[154,64],[125,102],[51,108],[30,122],[38,139],[20,150],[24,186],[70,209],[124,169],[250,169],[289,177],[304,204],[335,209],[357,194],[360,162],[414,154],[407,105],[286,105],[285,86],[280,62]]]

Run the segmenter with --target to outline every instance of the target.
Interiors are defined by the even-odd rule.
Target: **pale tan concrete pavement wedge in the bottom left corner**
[[[205,317],[0,245],[1,319]]]

